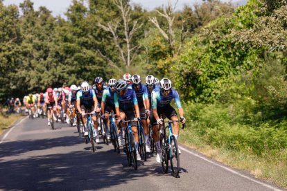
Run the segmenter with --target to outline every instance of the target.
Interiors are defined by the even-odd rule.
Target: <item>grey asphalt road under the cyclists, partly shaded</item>
[[[25,118],[0,136],[0,190],[282,190],[183,146],[180,178],[155,156],[135,171],[122,149],[99,143],[93,153],[76,127],[55,125]]]

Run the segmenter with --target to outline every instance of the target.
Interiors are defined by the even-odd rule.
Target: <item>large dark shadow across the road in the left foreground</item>
[[[0,190],[98,190],[150,174],[162,176],[145,166],[137,171],[124,167],[125,161],[124,154],[108,150],[94,154],[71,152],[33,156],[2,162]]]

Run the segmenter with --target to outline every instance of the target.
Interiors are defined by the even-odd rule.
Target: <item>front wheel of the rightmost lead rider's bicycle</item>
[[[180,154],[178,153],[178,145],[175,136],[171,136],[171,174],[177,178],[180,172]]]

